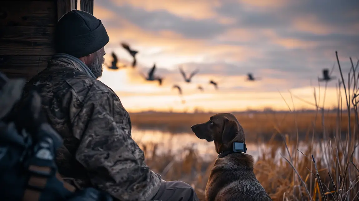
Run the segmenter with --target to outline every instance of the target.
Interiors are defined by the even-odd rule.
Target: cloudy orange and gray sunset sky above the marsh
[[[333,66],[325,106],[334,107],[341,78],[335,51],[345,82],[349,57],[355,63],[359,58],[358,0],[94,0],[94,16],[110,38],[106,63],[115,52],[129,66],[105,67],[99,80],[129,112],[287,110],[286,102],[291,109],[314,109],[313,92],[323,105],[325,91],[318,76]],[[121,42],[139,52],[136,68]],[[162,86],[141,76],[154,63]],[[199,73],[186,83],[180,66]],[[260,80],[246,81],[249,72]],[[218,90],[209,80],[218,82]]]

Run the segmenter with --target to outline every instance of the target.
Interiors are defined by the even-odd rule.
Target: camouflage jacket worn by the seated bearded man
[[[64,138],[56,158],[61,176],[118,200],[150,200],[161,176],[145,164],[132,139],[129,114],[115,92],[76,59],[53,57],[24,89],[24,96],[31,89],[41,95],[49,123]]]

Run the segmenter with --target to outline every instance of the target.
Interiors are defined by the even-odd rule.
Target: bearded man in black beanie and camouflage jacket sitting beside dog
[[[64,138],[57,158],[61,176],[118,200],[198,200],[187,183],[165,182],[149,169],[131,138],[129,114],[115,92],[97,80],[108,41],[101,20],[70,11],[56,26],[57,53],[25,86],[39,92],[49,123]]]

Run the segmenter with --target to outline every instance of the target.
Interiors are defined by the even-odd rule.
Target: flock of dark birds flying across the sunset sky
[[[122,42],[120,43],[121,46],[132,56],[133,61],[132,61],[132,68],[136,67],[137,64],[137,60],[136,60],[136,55],[138,53],[138,51],[131,49],[131,47],[129,46],[128,43]],[[117,66],[118,63],[118,57],[117,55],[112,52],[112,58],[113,61],[111,62],[111,66],[107,65],[107,67],[109,69],[112,70],[118,70],[119,67]],[[121,67],[127,67],[126,65],[122,65]],[[192,81],[192,78],[199,72],[198,69],[194,70],[191,72],[191,74],[189,76],[186,75],[185,71],[183,71],[182,67],[179,67],[180,73],[184,79],[185,82],[190,83]],[[159,77],[155,75],[155,71],[156,71],[156,64],[153,64],[153,67],[148,71],[147,75],[145,75],[144,73],[140,72],[141,76],[143,76],[143,78],[146,81],[158,81],[158,84],[161,86],[162,82],[163,82],[163,77]],[[330,77],[329,75],[329,70],[328,69],[324,69],[323,70],[323,78],[319,78],[318,77],[318,81],[330,81],[332,79],[335,79],[335,77]],[[252,73],[248,73],[247,74],[247,81],[256,81],[256,80],[261,80],[260,77],[254,77]],[[218,83],[213,81],[213,80],[209,80],[209,84],[213,85],[215,90],[218,90]],[[178,90],[178,93],[180,96],[182,96],[182,88],[179,85],[173,85],[172,88],[176,88]],[[204,88],[201,85],[197,86],[197,89],[200,90],[201,92],[204,91]],[[185,101],[182,99],[182,103],[185,103]]]

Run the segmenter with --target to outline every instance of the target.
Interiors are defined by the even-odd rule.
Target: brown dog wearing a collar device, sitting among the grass
[[[233,114],[213,115],[191,129],[198,138],[214,141],[218,153],[206,185],[206,201],[271,200],[253,172],[253,157],[242,153],[247,150],[246,138]]]

